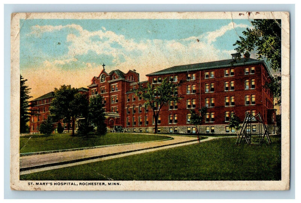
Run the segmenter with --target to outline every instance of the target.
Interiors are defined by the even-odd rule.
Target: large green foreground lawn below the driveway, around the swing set
[[[236,138],[21,175],[20,180],[280,180],[281,139],[234,145]]]

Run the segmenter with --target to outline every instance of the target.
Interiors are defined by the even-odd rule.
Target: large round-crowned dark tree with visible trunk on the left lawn
[[[88,98],[71,86],[63,85],[54,89],[54,98],[49,107],[50,115],[56,120],[64,119],[65,123],[72,123],[72,136],[77,117],[87,116]]]

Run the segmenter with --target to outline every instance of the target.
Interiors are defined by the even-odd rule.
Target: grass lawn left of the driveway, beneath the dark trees
[[[130,134],[130,133],[107,133],[104,136],[79,137],[71,134],[28,135],[20,137],[20,153],[50,151],[60,149],[72,149],[93,147],[101,145],[114,145],[132,142],[147,142],[168,139],[168,136]]]

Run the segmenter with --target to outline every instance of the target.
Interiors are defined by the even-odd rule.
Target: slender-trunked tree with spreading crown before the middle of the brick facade
[[[167,78],[163,78],[161,83],[140,86],[135,94],[146,101],[145,105],[150,106],[153,110],[155,120],[155,133],[157,133],[158,117],[161,108],[169,101],[178,102],[181,98],[175,94],[179,83],[169,82]]]

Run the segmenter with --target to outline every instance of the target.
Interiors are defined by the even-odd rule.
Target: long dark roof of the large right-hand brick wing
[[[260,64],[260,63],[264,64],[264,66],[266,67],[266,64],[263,60],[257,60],[253,58],[226,59],[221,61],[211,61],[205,63],[173,66],[170,68],[166,68],[164,70],[159,70],[157,72],[147,74],[146,76],[154,76],[154,75],[169,74],[169,73],[180,73],[180,72],[195,71],[195,70],[206,70],[212,68],[233,67],[233,66],[248,65],[248,64]]]

